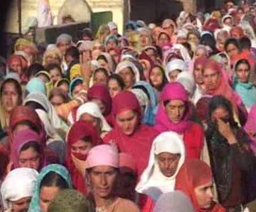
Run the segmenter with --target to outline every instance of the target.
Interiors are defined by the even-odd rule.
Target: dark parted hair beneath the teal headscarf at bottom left
[[[44,178],[42,178],[40,183],[40,189],[42,187],[58,187],[59,189],[67,189],[69,188],[69,184],[66,182],[66,180],[59,175],[58,173],[54,171],[49,171]]]

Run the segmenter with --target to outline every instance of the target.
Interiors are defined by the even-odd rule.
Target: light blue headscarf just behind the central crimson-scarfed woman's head
[[[138,81],[134,84],[132,90],[139,89],[142,90],[148,97],[149,103],[147,104],[142,123],[146,123],[147,125],[155,124],[155,112],[157,108],[157,94],[153,87],[148,82]]]

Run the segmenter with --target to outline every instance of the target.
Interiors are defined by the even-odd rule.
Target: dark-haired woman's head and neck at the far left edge
[[[14,78],[6,78],[0,86],[0,121],[1,128],[6,129],[10,123],[12,111],[22,104],[22,87]]]

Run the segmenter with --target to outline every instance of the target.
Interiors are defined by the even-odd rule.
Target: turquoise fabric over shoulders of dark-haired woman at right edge
[[[256,88],[251,82],[239,82],[237,77],[234,77],[234,82],[232,83],[234,91],[241,97],[242,102],[246,107],[251,107],[256,104]]]

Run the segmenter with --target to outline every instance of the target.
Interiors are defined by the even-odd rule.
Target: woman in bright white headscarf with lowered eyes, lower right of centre
[[[175,178],[185,161],[185,146],[176,132],[163,132],[155,138],[147,168],[136,191],[154,202],[162,193],[174,191]]]

